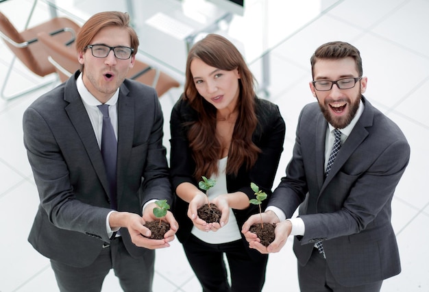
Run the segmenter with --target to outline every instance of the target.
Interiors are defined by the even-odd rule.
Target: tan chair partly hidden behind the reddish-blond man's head
[[[79,69],[80,64],[77,61],[77,52],[73,47],[64,46],[64,44],[58,42],[46,32],[39,33],[37,37],[49,56],[49,62],[56,67],[56,72],[62,82],[66,81]],[[170,88],[180,86],[179,82],[166,73],[154,69],[140,60],[136,60],[127,77],[154,87],[158,97],[166,93]]]

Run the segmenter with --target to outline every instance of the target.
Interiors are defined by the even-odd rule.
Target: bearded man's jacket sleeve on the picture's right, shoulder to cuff
[[[391,200],[409,157],[409,145],[401,139],[384,149],[365,172],[337,173],[332,184],[350,186],[343,208],[336,212],[321,210],[317,214],[302,215],[306,232],[301,243],[358,233],[368,233],[368,238],[374,238],[382,233],[383,224],[390,224]]]

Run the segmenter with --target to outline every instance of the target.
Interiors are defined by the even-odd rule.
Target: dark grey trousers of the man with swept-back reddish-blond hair
[[[99,292],[110,269],[119,278],[123,291],[151,292],[154,262],[154,250],[148,250],[144,258],[133,258],[122,238],[117,237],[88,267],[71,267],[56,260],[51,260],[51,267],[61,292]]]

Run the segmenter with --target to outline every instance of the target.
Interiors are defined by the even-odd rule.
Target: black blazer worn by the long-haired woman
[[[252,141],[262,152],[259,154],[256,164],[250,171],[247,171],[245,165],[243,165],[238,171],[237,176],[227,175],[226,177],[228,193],[242,191],[247,194],[249,199],[255,198],[254,191],[250,188],[251,182],[257,184],[267,195],[271,194],[280,155],[283,151],[284,134],[286,131],[278,106],[275,104],[265,99],[256,98],[256,115],[258,117],[258,126],[253,133]],[[185,125],[186,122],[195,121],[197,117],[198,113],[182,98],[177,101],[171,112],[170,167],[173,190],[182,182],[190,182],[198,187],[197,180],[193,178],[195,161],[193,160],[188,139],[186,138],[187,128]],[[264,201],[264,206],[267,205],[267,201]],[[177,238],[184,243],[191,234],[193,227],[191,219],[186,215],[188,203],[176,195],[174,210],[175,218],[180,226],[177,231]],[[238,228],[241,230],[243,223],[250,215],[258,213],[259,208],[256,205],[250,205],[245,210],[233,209],[232,211],[236,217]],[[243,234],[241,235],[245,246],[248,248],[249,244],[245,241]]]

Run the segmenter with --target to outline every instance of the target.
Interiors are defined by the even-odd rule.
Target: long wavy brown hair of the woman
[[[197,121],[188,124],[188,141],[195,160],[195,178],[218,173],[217,162],[221,158],[221,143],[215,135],[216,108],[199,95],[193,82],[191,62],[198,58],[209,66],[217,69],[232,71],[238,69],[240,93],[238,95],[238,117],[232,134],[228,153],[227,174],[237,175],[238,170],[245,165],[250,169],[258,158],[260,149],[253,143],[252,134],[258,125],[255,112],[256,94],[254,90],[254,75],[247,67],[243,56],[236,47],[217,34],[208,34],[193,45],[186,60],[186,82],[184,99],[198,113]]]

